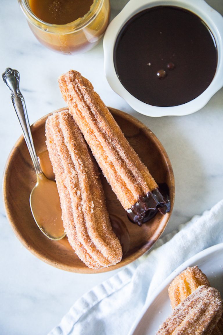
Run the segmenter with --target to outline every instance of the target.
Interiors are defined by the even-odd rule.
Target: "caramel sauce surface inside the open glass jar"
[[[84,16],[93,0],[29,0],[29,6],[40,20],[51,24],[66,24]]]

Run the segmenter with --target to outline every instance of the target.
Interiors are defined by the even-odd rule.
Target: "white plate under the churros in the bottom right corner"
[[[155,335],[159,326],[172,313],[168,287],[172,280],[188,266],[197,265],[217,288],[223,298],[223,243],[201,251],[180,265],[160,286],[144,306],[128,335]]]

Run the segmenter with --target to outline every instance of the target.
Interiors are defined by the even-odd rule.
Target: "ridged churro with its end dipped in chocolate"
[[[77,71],[59,78],[69,112],[130,219],[141,225],[147,211],[170,210],[147,167],[124,137],[92,84]]]

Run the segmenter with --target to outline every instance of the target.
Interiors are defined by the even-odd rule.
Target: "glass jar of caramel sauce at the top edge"
[[[109,22],[109,0],[18,1],[37,40],[63,54],[92,49]]]

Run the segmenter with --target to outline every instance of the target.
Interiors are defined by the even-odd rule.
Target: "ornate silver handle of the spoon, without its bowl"
[[[30,130],[28,115],[26,111],[25,101],[23,95],[19,90],[19,72],[17,70],[12,70],[7,68],[2,74],[2,79],[11,91],[11,99],[14,110],[19,119],[20,125],[22,127],[23,135],[32,158],[33,165],[35,167],[36,174],[41,174],[42,170],[36,155],[32,134]]]

